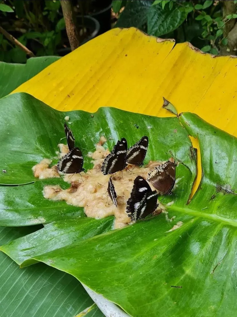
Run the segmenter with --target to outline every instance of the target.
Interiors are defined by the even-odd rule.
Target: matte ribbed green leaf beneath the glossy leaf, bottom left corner
[[[0,243],[30,234],[39,226],[0,227]],[[0,307],[1,316],[57,316],[74,317],[88,307],[86,317],[103,316],[93,304],[82,285],[71,275],[55,270],[43,263],[19,269],[3,252],[0,252]]]

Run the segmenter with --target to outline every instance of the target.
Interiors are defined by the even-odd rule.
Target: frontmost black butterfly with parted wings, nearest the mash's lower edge
[[[131,215],[132,220],[136,221],[151,214],[157,206],[157,192],[151,190],[144,178],[137,176],[127,201],[127,213]]]

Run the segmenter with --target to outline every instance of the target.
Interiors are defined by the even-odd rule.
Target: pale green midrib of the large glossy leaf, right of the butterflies
[[[186,213],[186,214],[194,216],[194,217],[202,217],[202,218],[206,218],[208,220],[213,220],[213,221],[221,222],[221,223],[233,226],[233,227],[237,227],[237,220],[227,219],[225,217],[218,216],[217,214],[207,214],[207,213],[202,212],[202,211],[193,210],[193,209],[185,208],[185,207],[178,207],[178,206],[167,206],[167,209],[178,211],[181,213]]]

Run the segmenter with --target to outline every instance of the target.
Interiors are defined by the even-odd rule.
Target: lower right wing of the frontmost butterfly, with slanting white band
[[[142,198],[141,203],[135,209],[134,214],[132,215],[133,220],[143,219],[147,217],[147,215],[151,214],[157,206],[157,191],[149,191],[145,193]]]

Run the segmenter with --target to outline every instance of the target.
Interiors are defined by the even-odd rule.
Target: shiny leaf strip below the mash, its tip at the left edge
[[[41,230],[18,238],[0,247],[0,250],[10,256],[21,268],[34,264],[32,255],[41,254],[63,248],[83,239],[96,236],[113,229],[114,218],[74,218],[57,221],[46,225]],[[53,237],[57,237],[57,243]],[[24,265],[22,263],[24,262]]]

